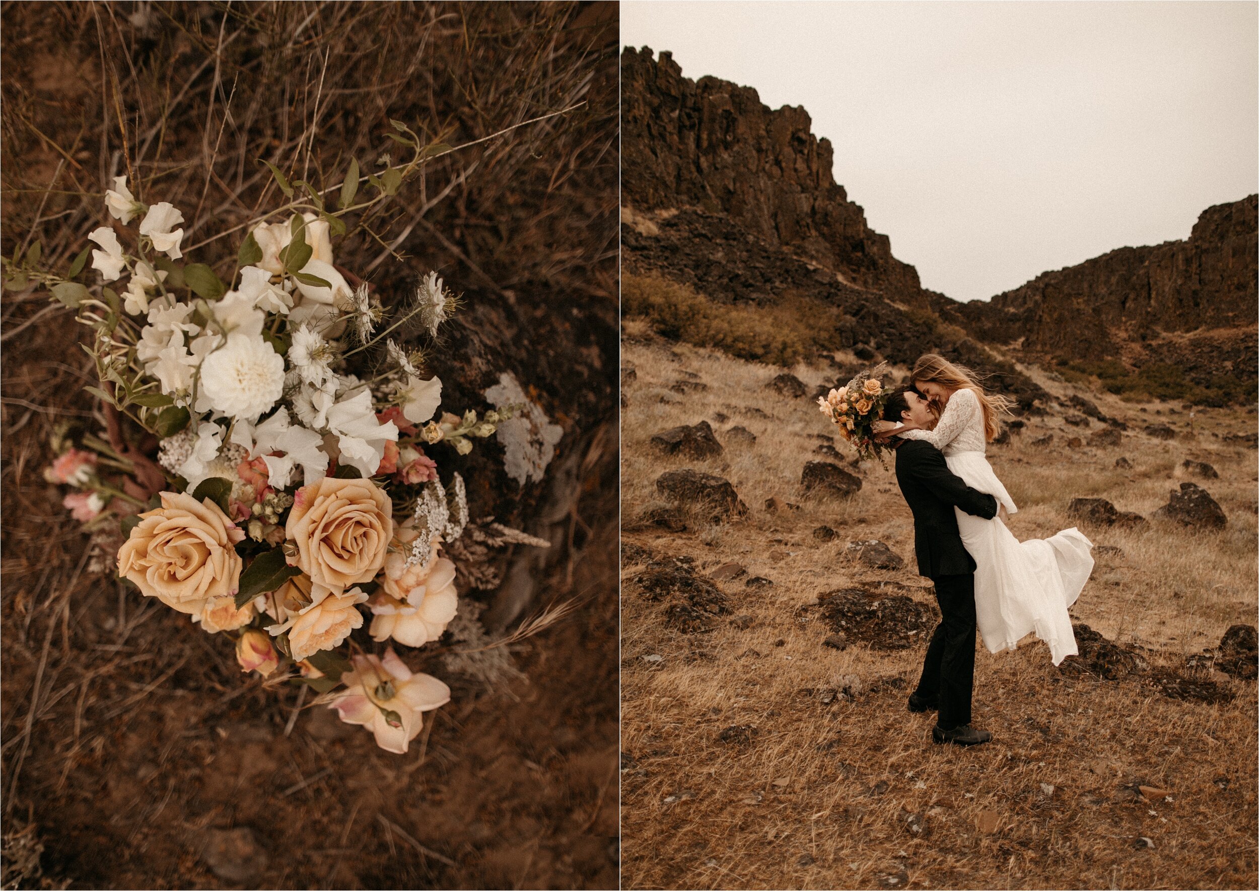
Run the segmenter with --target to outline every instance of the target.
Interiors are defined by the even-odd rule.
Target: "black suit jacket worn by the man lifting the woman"
[[[939,449],[923,440],[904,440],[896,447],[896,483],[914,514],[918,575],[935,578],[974,572],[953,508],[992,519],[997,515],[997,499],[963,483],[944,464]]]

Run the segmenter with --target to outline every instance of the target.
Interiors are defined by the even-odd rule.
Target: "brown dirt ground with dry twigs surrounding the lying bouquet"
[[[616,887],[614,5],[10,4],[3,15],[0,247],[10,255],[34,229],[59,268],[103,216],[123,145],[133,164],[147,151],[150,194],[178,197],[189,216],[186,251],[272,200],[258,156],[308,144],[312,178],[335,183],[351,154],[366,165],[392,146],[390,116],[461,144],[587,102],[404,188],[378,221],[390,237],[412,227],[402,261],[361,233],[339,248],[359,268],[379,257],[371,280],[387,301],[441,270],[465,297],[433,359],[443,396],[483,408],[481,389],[512,371],[565,428],[553,471],[579,468],[555,520],[555,486],[521,490],[496,442],[444,457],[470,481],[473,518],[563,531],[519,615],[580,606],[512,645],[519,675],[490,687],[447,672],[444,647],[410,653],[453,696],[405,756],[326,708],[298,710],[296,688],[262,689],[230,640],[96,565],[42,479],[54,423],[101,425],[81,391],[93,383],[86,334],[43,296],[4,295],[4,886]],[[229,242],[210,262],[230,268]],[[495,605],[494,591],[461,594]]]

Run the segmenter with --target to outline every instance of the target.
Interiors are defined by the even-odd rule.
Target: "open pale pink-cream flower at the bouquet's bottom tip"
[[[403,755],[424,726],[423,712],[451,701],[451,688],[431,674],[413,674],[389,649],[384,658],[354,657],[354,670],[341,675],[346,691],[330,704],[346,723],[371,730],[376,745]]]

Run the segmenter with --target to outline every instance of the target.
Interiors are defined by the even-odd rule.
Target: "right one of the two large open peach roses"
[[[311,581],[342,591],[371,581],[393,538],[393,503],[371,480],[325,476],[297,490],[285,528]]]

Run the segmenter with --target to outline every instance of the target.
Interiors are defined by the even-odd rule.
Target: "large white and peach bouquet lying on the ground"
[[[394,650],[437,640],[460,607],[443,549],[468,510],[463,479],[439,479],[441,449],[467,454],[516,406],[438,415],[442,382],[390,335],[408,325],[436,343],[457,297],[429,272],[390,314],[334,260],[341,217],[394,194],[434,154],[394,126],[415,159],[361,179],[351,161],[335,210],[324,203],[332,189],[290,185],[272,166],[290,200],[240,227],[227,282],[186,262],[183,213],[145,205],[125,176],[104,199],[117,224],[88,236],[94,248],[67,276],[39,267],[37,243],[5,258],[5,277],[48,287],[93,331],[84,349],[99,386],[87,389],[104,430],[59,427],[45,475],[69,486],[64,504],[97,543],[112,537],[120,577],[234,638],[242,670],[267,687],[307,684],[380,747],[405,752],[422,713],[451,696]],[[378,194],[355,203],[363,180]],[[89,252],[99,287],[76,281]],[[350,371],[356,354],[373,357],[364,377]],[[494,541],[529,539],[497,528]],[[384,653],[350,639],[364,611]]]

